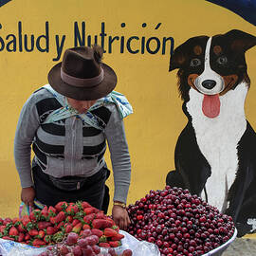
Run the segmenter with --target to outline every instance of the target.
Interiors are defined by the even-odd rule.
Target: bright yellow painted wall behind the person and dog
[[[0,17],[1,217],[17,216],[20,203],[21,188],[13,160],[20,110],[28,96],[46,84],[48,70],[57,63],[57,43],[61,46],[64,40],[65,49],[82,37],[82,22],[85,38],[98,35],[99,40],[104,25],[107,52],[103,61],[118,74],[116,90],[125,94],[134,107],[134,114],[125,119],[132,159],[128,203],[164,187],[166,174],[174,169],[176,139],[187,121],[178,97],[176,72],[168,72],[171,41],[166,41],[164,48],[164,38],[172,37],[174,46],[178,46],[193,36],[211,36],[233,28],[256,35],[255,27],[238,15],[203,0],[12,0],[0,8]],[[75,37],[76,29],[79,34]],[[30,49],[32,35],[34,49],[28,52],[25,39]],[[110,36],[119,36],[111,49]],[[137,37],[129,45],[134,53],[125,46],[131,37]],[[149,52],[143,44],[151,37],[158,41],[148,43]],[[251,79],[246,113],[256,129],[256,47],[247,51],[246,58]],[[110,167],[109,155],[106,158]],[[113,194],[112,176],[108,184]]]

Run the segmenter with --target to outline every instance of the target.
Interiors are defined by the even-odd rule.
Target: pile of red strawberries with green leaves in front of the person
[[[0,219],[0,238],[34,247],[57,244],[70,232],[82,236],[85,229],[98,236],[99,247],[121,246],[124,236],[119,233],[119,227],[87,202],[60,202],[55,207],[32,210],[21,219]]]

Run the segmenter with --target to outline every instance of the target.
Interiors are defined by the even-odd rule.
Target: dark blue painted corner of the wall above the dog
[[[227,8],[256,26],[256,0],[206,0]]]

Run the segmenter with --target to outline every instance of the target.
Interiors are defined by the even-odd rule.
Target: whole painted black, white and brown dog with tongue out
[[[256,134],[244,107],[245,53],[255,45],[256,37],[240,30],[197,36],[175,48],[170,61],[188,123],[166,183],[231,215],[239,236],[256,229]]]

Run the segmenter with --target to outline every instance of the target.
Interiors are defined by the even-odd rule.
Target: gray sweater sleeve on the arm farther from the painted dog
[[[14,138],[14,160],[22,188],[33,186],[31,177],[31,143],[40,125],[36,97],[32,94],[24,104]]]

